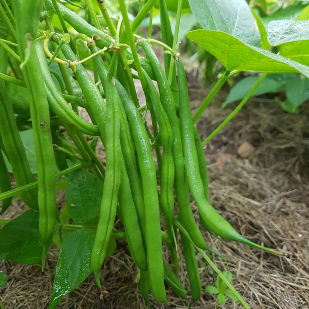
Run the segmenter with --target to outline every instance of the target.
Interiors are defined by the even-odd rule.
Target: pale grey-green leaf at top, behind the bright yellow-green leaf
[[[242,42],[260,46],[260,33],[248,3],[244,0],[189,0],[203,29],[225,32]]]

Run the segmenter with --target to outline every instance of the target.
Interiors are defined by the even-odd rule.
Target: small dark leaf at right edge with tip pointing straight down
[[[298,106],[309,98],[309,79],[295,76],[286,85],[286,98],[293,105],[293,111],[298,111]]]

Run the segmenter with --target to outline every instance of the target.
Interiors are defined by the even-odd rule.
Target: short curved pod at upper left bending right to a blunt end
[[[42,43],[36,44],[36,53],[43,72],[50,109],[58,116],[59,119],[61,119],[61,121],[70,123],[80,132],[88,135],[99,135],[98,127],[81,119],[73,111],[73,109],[70,108],[69,104],[67,104],[66,100],[59,93],[50,75]]]

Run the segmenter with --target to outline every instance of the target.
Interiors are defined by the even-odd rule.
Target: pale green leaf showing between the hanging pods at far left
[[[25,131],[20,131],[19,135],[23,142],[23,146],[25,147],[26,156],[30,165],[31,172],[32,174],[36,174],[37,173],[36,153],[34,149],[33,130],[29,129]],[[11,164],[9,160],[6,158],[6,155],[4,155],[4,161],[6,163],[7,170],[10,173],[13,173]]]

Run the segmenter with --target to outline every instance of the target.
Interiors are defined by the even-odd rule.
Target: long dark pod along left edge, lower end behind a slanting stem
[[[5,82],[0,80],[0,133],[11,163],[17,187],[24,186],[35,181],[26,157],[23,142],[18,133],[14,111],[8,99]],[[23,202],[30,208],[38,209],[37,189],[21,193]]]

